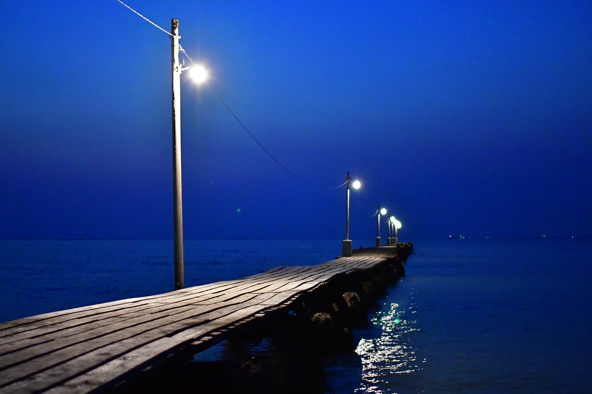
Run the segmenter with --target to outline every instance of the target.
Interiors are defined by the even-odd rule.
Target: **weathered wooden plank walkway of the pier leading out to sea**
[[[356,275],[400,270],[411,250],[411,244],[353,250],[352,257],[316,266],[280,266],[2,323],[0,394],[117,389],[173,356],[198,353],[271,315],[288,314],[299,298],[314,297],[327,284],[347,288]]]

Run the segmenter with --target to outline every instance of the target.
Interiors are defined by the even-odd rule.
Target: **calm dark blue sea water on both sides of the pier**
[[[592,392],[590,240],[420,240],[414,249],[407,276],[355,330],[355,350],[327,357],[328,392]],[[339,252],[340,241],[186,241],[185,283]],[[0,264],[0,321],[173,282],[170,241],[0,241]],[[220,346],[201,357],[224,357]]]

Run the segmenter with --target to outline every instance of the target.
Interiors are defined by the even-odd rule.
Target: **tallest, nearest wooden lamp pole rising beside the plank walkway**
[[[175,227],[175,290],[185,287],[183,269],[183,199],[181,193],[181,67],[179,19],[171,22],[173,89],[173,226]]]

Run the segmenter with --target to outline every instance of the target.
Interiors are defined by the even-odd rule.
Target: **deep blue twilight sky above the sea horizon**
[[[312,185],[347,171],[355,239],[378,203],[404,240],[592,235],[589,1],[220,3],[128,0],[213,74],[182,75],[186,238],[340,239]],[[0,238],[171,238],[168,35],[115,0],[0,21]]]

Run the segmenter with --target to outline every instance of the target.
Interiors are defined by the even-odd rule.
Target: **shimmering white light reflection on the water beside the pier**
[[[381,326],[382,333],[377,338],[362,338],[356,347],[355,352],[361,356],[362,362],[362,382],[361,387],[355,389],[356,393],[390,393],[392,391],[385,388],[384,383],[388,383],[394,374],[422,369],[409,335],[419,331],[417,321],[411,319],[414,305],[413,302],[406,306],[387,303],[371,318],[372,324]]]

